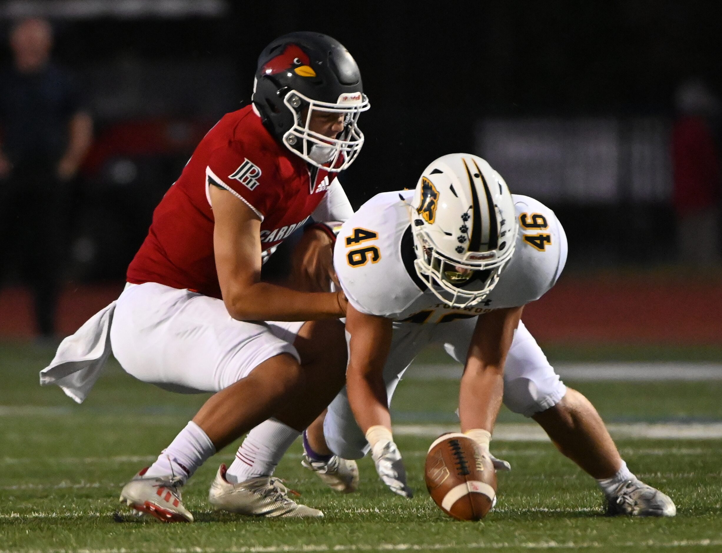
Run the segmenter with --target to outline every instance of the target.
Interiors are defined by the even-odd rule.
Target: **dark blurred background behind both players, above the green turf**
[[[704,0],[0,1],[0,79],[17,73],[17,48],[32,63],[43,44],[58,71],[45,96],[0,97],[0,136],[17,138],[18,106],[51,125],[50,97],[77,158],[61,159],[67,143],[48,154],[66,162],[51,167],[52,190],[0,159],[0,339],[57,339],[113,300],[193,148],[250,100],[264,45],[318,30],[355,56],[372,105],[342,175],[355,207],[415,186],[435,157],[474,152],[567,231],[565,274],[525,317],[540,341],[722,344],[719,11]],[[11,48],[29,17],[51,27]]]

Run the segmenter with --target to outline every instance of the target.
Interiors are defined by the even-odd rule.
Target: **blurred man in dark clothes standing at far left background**
[[[69,74],[50,61],[52,45],[48,22],[19,22],[10,32],[14,63],[0,73],[0,268],[14,254],[48,338],[64,261],[64,193],[92,139]]]

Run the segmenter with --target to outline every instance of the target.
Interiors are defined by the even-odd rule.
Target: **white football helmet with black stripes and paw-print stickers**
[[[451,307],[465,308],[495,287],[516,246],[518,222],[504,179],[471,154],[431,163],[410,209],[417,274]]]

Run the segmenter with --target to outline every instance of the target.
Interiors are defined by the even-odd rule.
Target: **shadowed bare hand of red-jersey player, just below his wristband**
[[[303,292],[329,292],[335,277],[334,240],[323,230],[305,230],[291,256],[290,286]]]

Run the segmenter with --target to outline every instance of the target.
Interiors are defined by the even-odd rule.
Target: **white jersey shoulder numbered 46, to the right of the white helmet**
[[[557,282],[567,261],[567,236],[554,212],[529,196],[512,198],[519,223],[516,250],[487,297],[497,309],[538,300]]]

